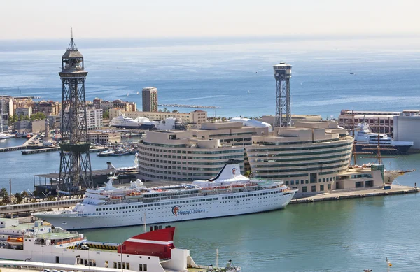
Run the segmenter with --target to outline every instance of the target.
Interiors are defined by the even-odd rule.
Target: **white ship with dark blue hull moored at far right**
[[[377,134],[370,131],[366,122],[358,124],[354,137],[357,152],[378,152],[384,153],[406,153],[412,147],[412,141],[393,141],[393,138],[386,134]],[[379,143],[379,146],[378,146]]]

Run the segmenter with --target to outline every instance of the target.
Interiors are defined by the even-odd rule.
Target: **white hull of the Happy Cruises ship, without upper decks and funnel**
[[[286,207],[294,195],[295,191],[282,192],[281,189],[275,188],[153,203],[85,205],[83,213],[37,213],[35,216],[50,222],[55,227],[68,230],[123,227],[279,210]],[[105,210],[99,210],[103,208]]]

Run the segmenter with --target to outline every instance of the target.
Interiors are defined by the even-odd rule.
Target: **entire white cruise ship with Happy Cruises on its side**
[[[297,190],[283,182],[250,180],[242,176],[239,161],[228,161],[216,178],[192,184],[146,188],[140,180],[130,187],[87,189],[72,210],[33,213],[56,227],[93,229],[177,222],[278,210]]]

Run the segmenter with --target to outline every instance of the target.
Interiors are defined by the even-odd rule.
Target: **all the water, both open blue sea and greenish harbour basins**
[[[89,73],[86,99],[135,101],[143,87],[158,87],[159,103],[216,106],[209,116],[257,117],[275,113],[272,66],[293,65],[293,114],[335,118],[340,110],[420,108],[420,37],[286,36],[87,40],[75,38]],[[0,95],[61,100],[58,71],[67,40],[2,41]],[[350,73],[354,74],[350,74]],[[163,109],[164,107],[160,107]],[[181,112],[197,108],[171,108]],[[0,141],[0,148],[22,138]],[[135,141],[135,140],[134,140]],[[133,156],[91,155],[92,169],[131,166]],[[358,163],[371,162],[358,157]],[[387,169],[416,169],[420,155],[385,159]],[[0,187],[32,190],[36,174],[59,171],[59,152],[0,153]],[[414,186],[419,171],[396,183]],[[420,185],[420,183],[419,183]],[[175,245],[195,262],[228,259],[252,272],[419,271],[418,194],[289,205],[283,210],[178,222]],[[92,241],[119,243],[142,226],[85,230]]]

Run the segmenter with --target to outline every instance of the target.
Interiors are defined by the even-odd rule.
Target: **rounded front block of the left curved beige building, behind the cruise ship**
[[[216,176],[228,159],[243,160],[244,147],[197,138],[193,131],[147,131],[138,155],[141,179],[205,180]]]

